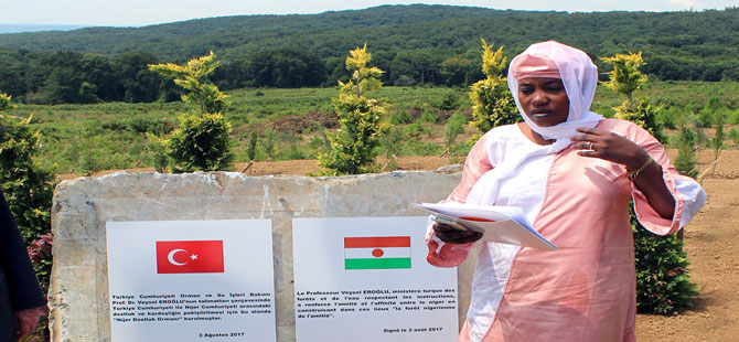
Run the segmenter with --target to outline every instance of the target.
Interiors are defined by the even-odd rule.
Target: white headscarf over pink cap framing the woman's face
[[[518,81],[527,77],[561,78],[569,98],[567,121],[551,127],[539,127],[524,114],[518,103]],[[532,44],[511,61],[508,67],[508,88],[516,100],[518,113],[526,125],[547,139],[557,139],[556,150],[569,146],[569,137],[578,135],[578,127],[596,127],[603,119],[590,111],[592,98],[598,85],[598,67],[579,49],[555,41]]]

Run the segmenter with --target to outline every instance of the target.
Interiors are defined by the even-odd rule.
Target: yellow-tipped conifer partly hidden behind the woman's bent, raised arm
[[[601,61],[613,64],[613,71],[609,73],[611,79],[604,84],[628,97],[621,106],[614,108],[617,117],[630,119],[655,138],[663,139],[662,126],[655,120],[658,108],[653,108],[649,99],[642,99],[635,106],[633,103],[632,93],[646,82],[646,76],[638,70],[642,63],[641,53],[617,54],[615,57],[603,57]],[[688,261],[683,242],[674,234],[657,236],[646,231],[636,220],[633,205],[631,224],[639,310],[671,314],[677,309],[689,307],[698,292],[687,272]]]

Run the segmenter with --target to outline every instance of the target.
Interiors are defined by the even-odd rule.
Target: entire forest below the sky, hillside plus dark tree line
[[[511,57],[557,40],[598,56],[643,52],[660,81],[739,81],[739,8],[684,12],[532,12],[382,6],[294,15],[238,15],[143,28],[0,34],[0,89],[26,104],[178,100],[148,64],[213,51],[222,89],[334,86],[344,56],[367,43],[395,86],[469,86],[483,77],[480,39]]]

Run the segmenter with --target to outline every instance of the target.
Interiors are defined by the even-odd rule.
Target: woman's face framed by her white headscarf
[[[569,98],[559,78],[522,78],[518,103],[528,119],[540,127],[565,122],[569,115]]]

